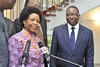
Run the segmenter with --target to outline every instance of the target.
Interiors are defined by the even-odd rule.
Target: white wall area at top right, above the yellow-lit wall
[[[83,14],[100,6],[100,0],[75,0],[75,3],[71,3],[70,5],[77,6],[80,10],[80,14]]]

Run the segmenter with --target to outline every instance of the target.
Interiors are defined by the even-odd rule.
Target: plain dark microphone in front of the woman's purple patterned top
[[[22,62],[21,62],[22,67],[24,67],[24,65],[26,64],[26,61],[28,59],[30,45],[31,45],[31,41],[28,40],[26,42],[26,46],[25,46],[25,49],[24,49],[24,52],[23,52],[23,56],[22,56]]]

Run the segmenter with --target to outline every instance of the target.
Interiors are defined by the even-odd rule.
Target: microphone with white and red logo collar
[[[50,61],[50,57],[49,57],[48,48],[43,46],[43,44],[41,42],[38,42],[38,45],[40,47],[41,53],[44,55],[44,58],[46,59],[46,62],[49,62]]]

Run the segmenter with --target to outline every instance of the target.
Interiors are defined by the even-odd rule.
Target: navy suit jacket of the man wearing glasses
[[[54,28],[51,54],[75,62],[84,67],[94,67],[94,43],[92,31],[79,25],[75,51],[71,50],[67,24]],[[77,67],[51,57],[50,67]]]

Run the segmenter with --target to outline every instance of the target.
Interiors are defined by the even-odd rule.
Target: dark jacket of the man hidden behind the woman
[[[41,25],[42,32],[43,32],[44,42],[45,42],[45,45],[47,46],[47,44],[48,44],[47,43],[47,21],[44,17],[42,17],[40,25]],[[16,33],[20,32],[22,30],[22,26],[21,26],[19,18],[15,19],[14,27],[16,29]]]

